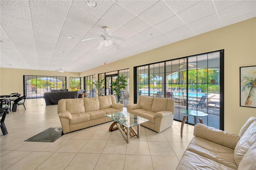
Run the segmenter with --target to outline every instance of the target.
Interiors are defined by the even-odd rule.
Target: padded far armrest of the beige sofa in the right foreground
[[[216,129],[214,127],[208,127],[204,124],[196,124],[194,127],[194,136],[204,138],[216,144],[226,146],[231,149],[235,149],[238,140],[238,135],[231,132]]]

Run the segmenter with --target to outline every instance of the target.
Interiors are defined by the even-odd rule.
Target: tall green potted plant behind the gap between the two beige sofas
[[[116,93],[117,101],[120,103],[120,93],[121,90],[125,90],[127,86],[126,77],[122,74],[121,76],[117,76],[116,79],[111,83],[112,90]]]

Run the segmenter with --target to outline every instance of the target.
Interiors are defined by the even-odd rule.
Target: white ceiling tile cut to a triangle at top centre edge
[[[150,6],[158,2],[158,0],[117,0],[116,3],[125,8],[126,10],[139,15],[148,9]]]

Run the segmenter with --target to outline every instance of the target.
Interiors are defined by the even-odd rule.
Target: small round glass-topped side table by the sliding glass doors
[[[182,110],[180,112],[184,114],[184,117],[183,117],[182,122],[181,122],[181,127],[180,127],[180,137],[182,137],[182,134],[183,134],[183,127],[184,127],[186,117],[194,116],[194,125],[196,125],[197,117],[199,119],[199,122],[203,124],[203,120],[200,119],[200,117],[208,116],[207,113],[204,113],[204,112],[201,112],[201,111]]]

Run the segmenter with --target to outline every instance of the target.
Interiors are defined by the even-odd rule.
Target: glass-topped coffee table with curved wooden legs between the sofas
[[[107,114],[106,117],[109,117],[114,121],[114,123],[110,125],[109,131],[111,132],[113,130],[119,129],[127,143],[130,143],[130,136],[137,136],[137,138],[140,138],[140,124],[148,121],[148,119],[133,115],[125,111],[110,113]],[[115,125],[117,127],[114,127]],[[136,125],[138,125],[137,132],[133,128]]]

